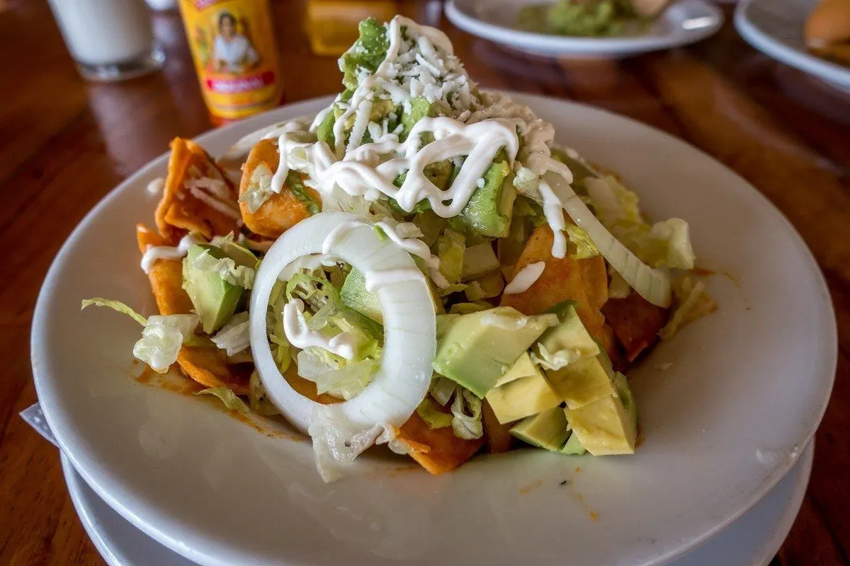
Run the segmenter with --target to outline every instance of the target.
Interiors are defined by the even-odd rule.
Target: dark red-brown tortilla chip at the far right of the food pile
[[[602,312],[629,361],[655,342],[670,317],[669,309],[653,305],[633,291],[625,299],[609,300]]]

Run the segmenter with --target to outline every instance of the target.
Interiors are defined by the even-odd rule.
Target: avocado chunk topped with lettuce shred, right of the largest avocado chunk
[[[543,367],[558,370],[580,358],[598,355],[599,345],[581,323],[574,301],[564,301],[549,312],[557,314],[560,323],[544,332],[532,346]]]

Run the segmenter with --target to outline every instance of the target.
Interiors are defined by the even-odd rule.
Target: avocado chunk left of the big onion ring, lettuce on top
[[[183,288],[189,294],[198,317],[201,317],[204,332],[211,334],[233,317],[245,289],[224,281],[218,273],[203,272],[192,266],[192,261],[205,251],[217,260],[226,257],[221,249],[210,245],[190,247],[183,260]]]

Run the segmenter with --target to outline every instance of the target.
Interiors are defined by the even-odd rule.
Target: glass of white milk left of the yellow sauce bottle
[[[49,0],[80,74],[122,81],[157,70],[165,54],[144,0]]]

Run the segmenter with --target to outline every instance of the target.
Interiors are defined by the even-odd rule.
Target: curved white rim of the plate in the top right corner
[[[741,37],[756,48],[761,53],[764,53],[771,59],[779,61],[779,63],[787,64],[796,70],[801,70],[808,75],[815,76],[822,81],[842,88],[850,88],[850,69],[832,63],[826,59],[821,59],[812,53],[801,51],[800,49],[792,48],[780,42],[771,36],[766,31],[762,31],[755,22],[750,19],[748,14],[749,8],[753,4],[762,0],[741,0],[734,13],[734,25]],[[776,0],[771,0],[775,2]]]

